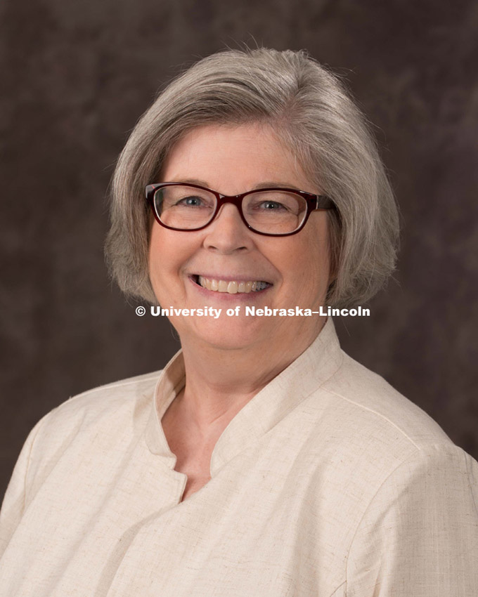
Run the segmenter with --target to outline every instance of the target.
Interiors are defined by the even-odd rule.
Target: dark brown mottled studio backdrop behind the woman
[[[42,415],[178,348],[108,281],[105,194],[157,88],[242,42],[308,49],[375,124],[402,249],[342,346],[478,457],[475,0],[4,0],[0,27],[0,496]]]

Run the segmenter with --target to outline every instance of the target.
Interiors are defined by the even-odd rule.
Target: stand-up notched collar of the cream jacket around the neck
[[[332,318],[313,343],[283,372],[272,379],[236,414],[224,429],[212,451],[210,473],[221,468],[254,440],[271,430],[297,405],[332,376],[342,364],[342,350]],[[163,457],[174,468],[176,456],[162,429],[163,414],[186,382],[181,350],[164,368],[152,398],[150,418],[146,426],[146,443],[150,452]]]

